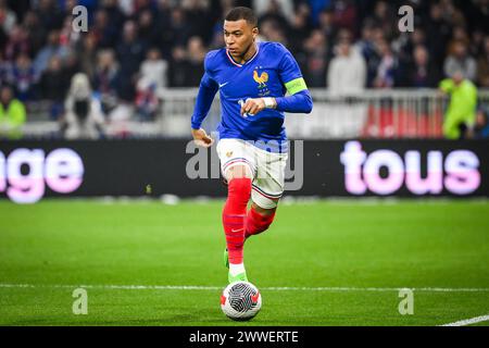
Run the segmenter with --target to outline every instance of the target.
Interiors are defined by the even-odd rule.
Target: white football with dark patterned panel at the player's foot
[[[229,284],[221,295],[221,309],[227,318],[247,321],[254,318],[262,308],[259,289],[249,282]]]

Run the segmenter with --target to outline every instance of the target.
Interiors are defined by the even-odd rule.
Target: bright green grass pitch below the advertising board
[[[220,201],[0,201],[0,324],[440,325],[489,314],[485,200],[281,204],[246,245],[263,297],[247,323],[220,308],[221,210]],[[82,285],[88,314],[75,315]],[[399,313],[403,287],[414,288],[413,314]]]

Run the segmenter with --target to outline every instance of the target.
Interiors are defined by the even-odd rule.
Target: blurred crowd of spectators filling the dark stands
[[[412,33],[398,29],[405,4]],[[88,9],[86,33],[73,30],[76,5]],[[455,72],[489,87],[489,0],[0,0],[5,98],[49,100],[59,120],[83,73],[104,114],[127,103],[151,119],[156,90],[199,85],[236,5],[255,10],[260,39],[283,42],[311,88],[434,88]]]

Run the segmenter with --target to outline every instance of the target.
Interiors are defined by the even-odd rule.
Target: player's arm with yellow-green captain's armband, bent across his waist
[[[276,109],[292,113],[310,113],[312,111],[312,97],[302,77],[299,64],[286,48],[284,48],[283,59],[278,65],[278,73],[288,96],[248,99],[241,105],[241,114],[256,114],[264,109]]]

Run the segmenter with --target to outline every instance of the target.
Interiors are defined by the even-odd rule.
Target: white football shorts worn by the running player
[[[288,153],[268,152],[242,139],[221,139],[216,150],[224,177],[233,166],[246,165],[253,177],[251,200],[263,209],[277,207],[284,194]]]

